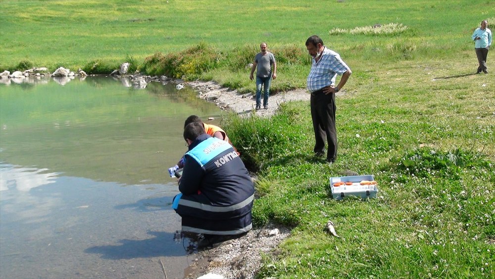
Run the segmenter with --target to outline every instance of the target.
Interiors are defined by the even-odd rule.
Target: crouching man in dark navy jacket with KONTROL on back
[[[197,122],[184,128],[184,139],[189,151],[181,193],[172,205],[182,217],[182,230],[204,235],[199,249],[244,235],[252,227],[254,186],[243,161],[232,145],[210,137]]]

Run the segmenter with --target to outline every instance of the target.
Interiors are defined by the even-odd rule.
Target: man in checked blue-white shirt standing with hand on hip
[[[323,45],[320,37],[313,35],[306,40],[306,49],[313,57],[307,78],[307,89],[311,93],[311,119],[313,121],[314,153],[325,154],[325,138],[328,141],[327,162],[337,159],[337,129],[335,127],[335,93],[342,90],[352,71],[340,55]],[[335,86],[335,79],[342,75]]]

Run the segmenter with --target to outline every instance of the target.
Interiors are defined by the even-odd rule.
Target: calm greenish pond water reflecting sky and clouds
[[[0,80],[0,278],[183,278],[172,167],[191,88],[128,80]]]

